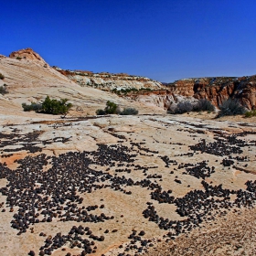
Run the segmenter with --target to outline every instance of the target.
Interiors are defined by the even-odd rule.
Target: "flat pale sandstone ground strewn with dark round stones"
[[[255,123],[9,118],[0,133],[3,255],[141,255],[163,241],[173,250],[184,234],[205,225],[214,234],[221,218],[255,207]]]

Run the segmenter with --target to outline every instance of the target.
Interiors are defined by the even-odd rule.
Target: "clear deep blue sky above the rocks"
[[[1,1],[0,54],[170,82],[256,74],[256,0]]]

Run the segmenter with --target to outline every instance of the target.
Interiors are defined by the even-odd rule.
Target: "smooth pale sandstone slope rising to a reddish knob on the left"
[[[148,107],[136,102],[120,98],[107,91],[81,87],[69,80],[56,69],[52,69],[31,48],[22,49],[10,54],[10,58],[0,58],[0,72],[5,76],[0,80],[8,94],[0,94],[0,109],[3,111],[24,114],[21,104],[32,101],[43,101],[47,95],[51,97],[68,98],[74,108],[71,113],[76,115],[95,114],[97,109],[105,107],[106,101],[114,101],[122,108],[133,107],[140,112],[147,112]],[[160,108],[152,108],[152,112],[164,112]],[[27,113],[26,113],[27,114]]]

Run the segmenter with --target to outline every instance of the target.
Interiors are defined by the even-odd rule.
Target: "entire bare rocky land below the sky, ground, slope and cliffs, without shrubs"
[[[230,97],[255,108],[255,76],[163,84],[31,48],[1,55],[0,73],[1,255],[256,254],[256,117],[216,118]],[[23,111],[47,96],[72,108]],[[168,112],[199,99],[216,112]],[[139,113],[96,115],[107,101]]]

